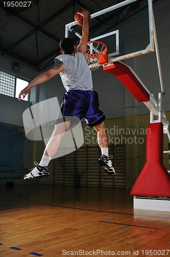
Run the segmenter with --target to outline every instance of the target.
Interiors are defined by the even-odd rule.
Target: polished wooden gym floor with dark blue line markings
[[[125,189],[30,181],[0,192],[1,257],[170,256],[170,213],[134,211]]]

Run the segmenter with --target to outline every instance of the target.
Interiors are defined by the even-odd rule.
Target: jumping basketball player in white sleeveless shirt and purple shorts
[[[36,77],[22,91],[20,91],[18,100],[26,97],[31,87],[44,83],[55,75],[60,74],[63,86],[67,93],[63,95],[61,104],[62,116],[72,116],[75,122],[84,118],[90,127],[94,127],[97,132],[98,144],[101,149],[101,157],[98,162],[104,166],[105,172],[110,175],[115,174],[112,166],[111,157],[109,157],[108,137],[104,127],[104,113],[99,109],[98,94],[93,91],[91,70],[86,62],[85,54],[89,36],[89,11],[82,8],[78,12],[83,17],[82,38],[78,47],[74,45],[71,39],[65,38],[60,41],[60,56],[55,58],[55,65],[48,71]],[[39,163],[34,162],[36,167],[24,179],[36,179],[48,177],[48,164],[55,155],[61,138],[69,130],[71,121],[63,122],[58,118],[55,120],[55,127],[49,142],[46,145],[44,154]]]

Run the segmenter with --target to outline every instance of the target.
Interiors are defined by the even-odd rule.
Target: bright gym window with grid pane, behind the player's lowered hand
[[[27,85],[28,81],[0,70],[0,94],[18,98],[20,91]],[[28,101],[28,95],[24,100]]]

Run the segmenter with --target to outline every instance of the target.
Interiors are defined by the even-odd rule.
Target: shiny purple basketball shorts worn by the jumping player
[[[63,95],[60,109],[63,117],[74,116],[80,120],[84,118],[90,127],[100,124],[105,119],[104,113],[99,109],[96,91],[69,90]],[[59,120],[57,117],[55,124],[61,122]]]

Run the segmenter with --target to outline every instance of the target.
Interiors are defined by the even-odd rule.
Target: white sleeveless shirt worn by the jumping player
[[[60,77],[66,91],[69,90],[93,90],[92,74],[89,66],[81,52],[70,54],[60,54],[55,57],[63,62],[65,71],[60,72]]]

